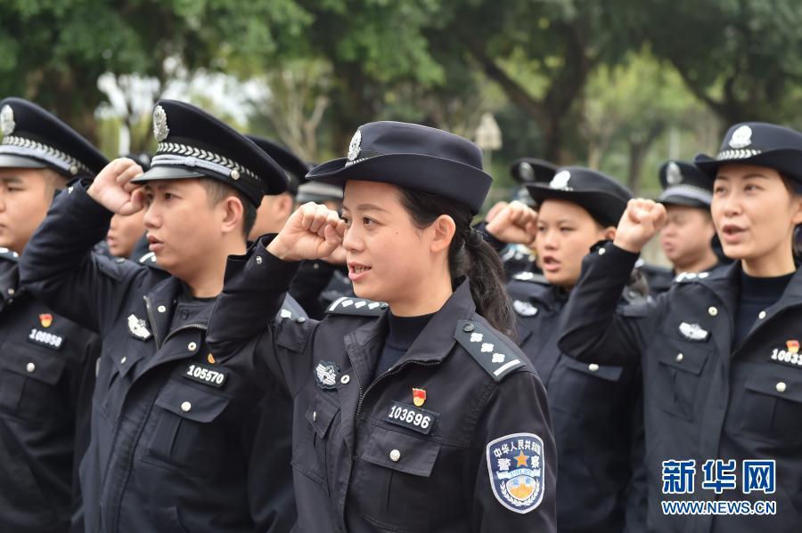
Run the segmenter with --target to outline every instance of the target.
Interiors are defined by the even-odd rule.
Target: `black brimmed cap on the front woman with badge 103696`
[[[316,166],[307,180],[342,185],[383,182],[461,202],[479,213],[493,178],[482,170],[477,145],[425,125],[372,122],[351,139],[348,157]]]

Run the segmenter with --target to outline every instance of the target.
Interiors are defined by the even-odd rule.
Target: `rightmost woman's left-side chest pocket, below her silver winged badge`
[[[651,344],[656,351],[656,364],[643,359],[646,369],[645,402],[667,413],[692,420],[699,394],[701,373],[710,359],[707,345],[683,343],[673,337],[660,335]]]

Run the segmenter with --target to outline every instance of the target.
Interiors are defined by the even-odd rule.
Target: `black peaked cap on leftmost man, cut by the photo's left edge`
[[[0,131],[0,167],[50,168],[67,178],[94,178],[109,164],[69,125],[21,98],[0,101]]]

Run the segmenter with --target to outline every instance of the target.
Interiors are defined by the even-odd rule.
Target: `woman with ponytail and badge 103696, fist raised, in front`
[[[499,331],[501,265],[469,226],[491,182],[481,168],[451,133],[363,125],[347,159],[307,175],[345,184],[343,219],[307,204],[230,259],[212,349],[294,398],[299,531],[554,530],[544,387]],[[319,323],[261,320],[298,262],[340,241],[360,298]]]

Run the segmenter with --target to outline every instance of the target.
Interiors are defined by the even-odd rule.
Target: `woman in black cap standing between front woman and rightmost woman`
[[[557,346],[558,323],[577,284],[582,259],[616,224],[632,194],[615,180],[578,166],[558,169],[551,181],[527,184],[537,203],[532,246],[543,274],[522,271],[507,286],[518,319],[518,342],[549,395],[557,442],[557,525],[560,531],[642,531],[642,386],[638,367],[580,363]],[[512,222],[487,230],[515,235]],[[645,301],[635,272],[618,293],[618,311]],[[640,475],[638,475],[640,474]]]

